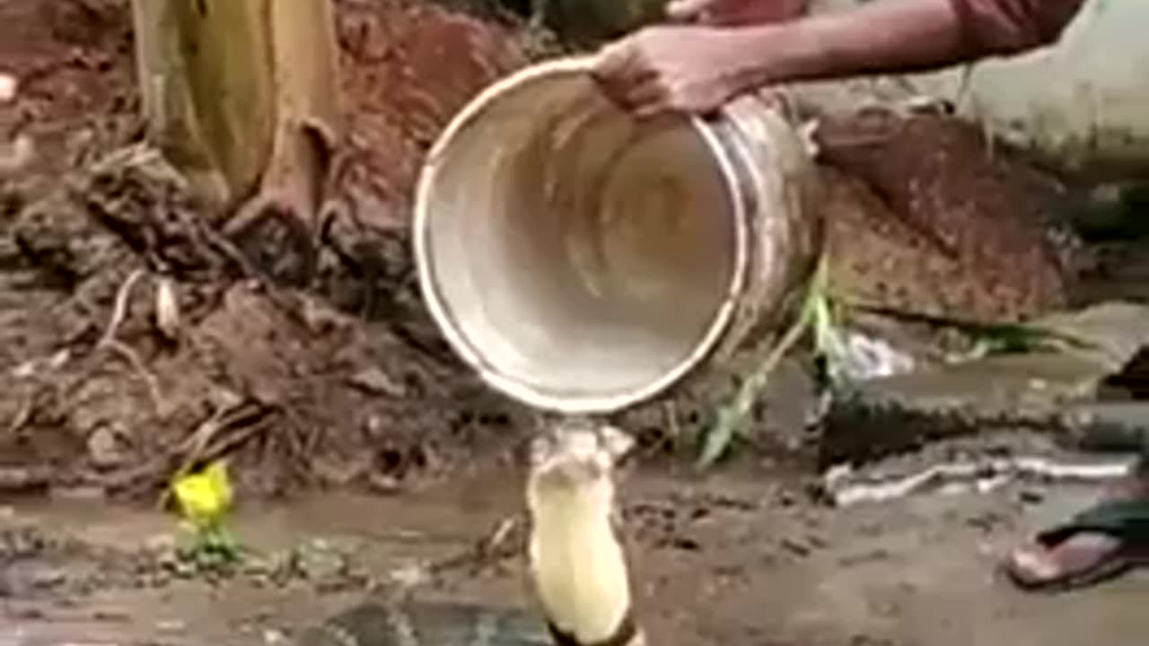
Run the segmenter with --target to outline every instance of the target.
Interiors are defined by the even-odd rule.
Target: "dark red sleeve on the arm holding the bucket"
[[[979,55],[1012,54],[1051,45],[1084,0],[950,0],[963,37]]]

